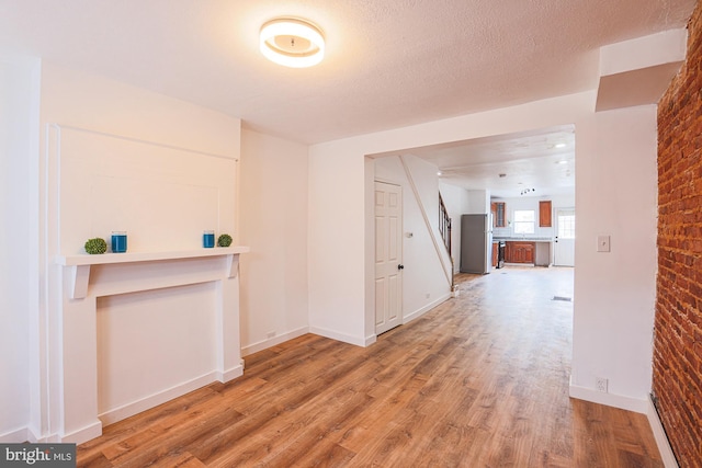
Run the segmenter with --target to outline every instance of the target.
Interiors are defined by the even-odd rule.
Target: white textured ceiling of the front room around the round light
[[[597,87],[597,49],[683,26],[694,0],[0,0],[0,47],[195,102],[301,142]],[[294,15],[327,58],[258,52]]]

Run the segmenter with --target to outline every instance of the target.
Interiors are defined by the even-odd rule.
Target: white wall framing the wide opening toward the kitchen
[[[609,403],[645,402],[656,272],[655,109],[595,114],[595,99],[592,92],[579,93],[313,146],[310,320],[324,317],[325,327],[348,335],[349,342],[364,342],[370,330],[371,307],[363,307],[372,277],[364,264],[373,255],[364,225],[372,222],[372,214],[364,213],[364,187],[373,180],[364,171],[365,155],[575,124],[574,386],[586,390],[582,397],[595,398],[592,376],[607,372],[611,393],[618,393],[607,397]],[[331,207],[333,214],[327,216]],[[619,242],[626,247],[609,255],[593,254],[593,233],[601,231],[614,236],[613,249]]]

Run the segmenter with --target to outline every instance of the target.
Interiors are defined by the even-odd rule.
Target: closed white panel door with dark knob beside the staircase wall
[[[375,182],[375,333],[403,322],[403,189]]]

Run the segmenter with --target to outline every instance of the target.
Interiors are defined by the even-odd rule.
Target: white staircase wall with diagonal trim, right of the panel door
[[[406,323],[445,300],[451,294],[451,283],[443,273],[444,264],[446,271],[450,271],[450,260],[439,233],[437,165],[415,156],[403,158],[419,199],[412,191],[400,157],[375,159],[375,176],[380,181],[403,187],[403,318]],[[422,209],[430,228],[427,227]],[[408,233],[411,237],[407,237]],[[439,251],[434,241],[438,242]]]

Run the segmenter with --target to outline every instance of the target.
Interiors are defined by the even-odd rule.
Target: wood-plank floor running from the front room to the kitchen
[[[660,467],[646,418],[568,398],[569,269],[460,275],[362,349],[307,334],[112,424],[90,467]]]

